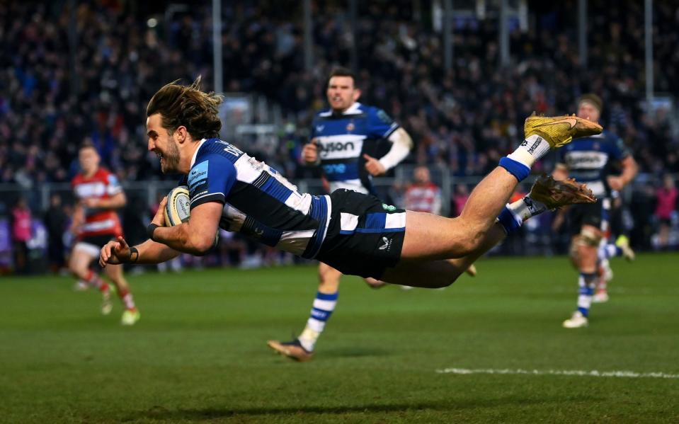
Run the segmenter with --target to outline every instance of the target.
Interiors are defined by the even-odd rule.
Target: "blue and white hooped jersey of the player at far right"
[[[600,197],[610,194],[606,176],[611,161],[620,161],[629,154],[620,137],[604,131],[592,137],[573,139],[561,148],[559,161],[569,168],[569,177],[587,183],[594,195]]]

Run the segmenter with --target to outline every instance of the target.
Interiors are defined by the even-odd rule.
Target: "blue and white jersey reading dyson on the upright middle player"
[[[384,110],[357,102],[341,114],[332,110],[316,113],[312,126],[330,191],[347,188],[371,193],[372,177],[363,165],[363,146],[388,138],[399,125]]]

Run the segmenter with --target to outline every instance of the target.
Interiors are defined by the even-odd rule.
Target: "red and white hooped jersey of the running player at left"
[[[71,181],[78,201],[96,198],[110,199],[122,193],[122,187],[113,173],[99,168],[93,176],[85,178],[81,173]],[[80,227],[79,239],[89,236],[122,236],[118,213],[112,209],[84,207],[85,222]]]

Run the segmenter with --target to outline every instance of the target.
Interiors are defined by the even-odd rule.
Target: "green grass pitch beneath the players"
[[[307,319],[315,268],[130,277],[142,320],[65,277],[0,280],[0,420],[676,423],[679,379],[437,374],[446,367],[679,374],[679,255],[615,260],[611,301],[564,330],[566,258],[490,259],[447,290],[345,277],[312,362],[274,355]]]

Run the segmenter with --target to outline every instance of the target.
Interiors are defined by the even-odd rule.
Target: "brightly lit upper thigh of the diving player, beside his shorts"
[[[473,248],[472,242],[461,219],[409,210],[401,260],[461,258]]]

